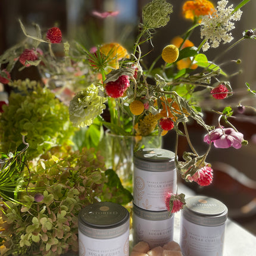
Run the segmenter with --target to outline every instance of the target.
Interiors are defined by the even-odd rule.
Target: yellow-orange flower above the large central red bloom
[[[119,67],[118,60],[121,58],[129,58],[127,50],[119,43],[105,43],[99,48],[99,51],[108,56],[108,65],[117,69]]]

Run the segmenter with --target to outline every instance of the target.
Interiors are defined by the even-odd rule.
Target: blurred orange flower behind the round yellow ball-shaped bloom
[[[180,38],[179,36],[176,36],[171,40],[171,43],[173,45],[176,45],[177,48],[180,47],[183,43],[183,39]],[[185,42],[183,43],[182,47],[180,49],[186,48],[186,47],[192,47],[194,44],[191,42],[191,40],[186,39]],[[198,65],[192,64],[192,61],[190,58],[184,58],[180,61],[177,61],[177,68],[178,70],[182,70],[183,68],[191,68],[191,69],[196,69]]]

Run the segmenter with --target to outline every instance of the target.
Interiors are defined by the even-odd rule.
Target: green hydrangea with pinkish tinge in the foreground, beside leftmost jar
[[[104,159],[94,149],[71,152],[52,148],[43,155],[24,181],[29,193],[20,193],[21,204],[6,202],[5,246],[14,256],[61,255],[78,251],[78,213],[85,205],[101,198],[125,204],[132,195],[123,188],[114,171],[105,171]],[[41,201],[36,201],[40,193]],[[39,252],[40,249],[40,252]],[[8,254],[7,254],[8,255]]]

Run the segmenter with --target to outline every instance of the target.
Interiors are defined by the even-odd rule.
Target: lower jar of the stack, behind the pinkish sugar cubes
[[[166,211],[147,211],[133,204],[133,243],[147,242],[155,248],[173,240],[174,215]]]

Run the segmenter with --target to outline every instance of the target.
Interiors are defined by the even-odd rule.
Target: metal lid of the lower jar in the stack
[[[144,220],[167,220],[168,218],[172,218],[173,214],[170,214],[169,211],[148,211],[142,208],[139,208],[135,204],[133,204],[133,213],[137,216],[143,218]]]

